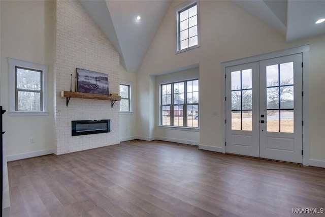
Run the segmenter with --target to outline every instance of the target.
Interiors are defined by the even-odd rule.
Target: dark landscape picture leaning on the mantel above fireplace
[[[109,95],[108,75],[77,68],[78,92]]]

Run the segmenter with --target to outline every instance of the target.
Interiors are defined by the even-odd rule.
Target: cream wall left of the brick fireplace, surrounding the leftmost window
[[[53,149],[53,2],[1,1],[1,102],[9,111],[8,57],[49,66],[48,116],[4,115],[7,156]],[[35,143],[29,139],[34,138]]]

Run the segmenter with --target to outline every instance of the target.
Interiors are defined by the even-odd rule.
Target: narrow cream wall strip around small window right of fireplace
[[[120,112],[120,141],[137,139],[137,74],[126,72],[120,65],[120,83],[132,83],[132,112]]]

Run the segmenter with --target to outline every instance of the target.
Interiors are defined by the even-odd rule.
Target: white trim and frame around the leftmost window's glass
[[[13,59],[13,58],[8,58],[8,61],[9,61],[9,114],[11,116],[48,115],[48,90],[47,90],[48,66],[43,64],[31,63],[19,59]],[[42,71],[43,111],[16,111],[16,100],[15,100],[16,67]]]

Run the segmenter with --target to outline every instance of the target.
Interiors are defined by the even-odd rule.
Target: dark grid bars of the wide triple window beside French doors
[[[173,126],[173,127],[188,127],[188,123],[187,123],[187,106],[188,105],[196,105],[198,107],[198,115],[199,115],[199,99],[198,99],[198,103],[187,103],[187,82],[188,81],[198,81],[198,91],[199,92],[199,79],[191,79],[191,80],[186,80],[186,81],[179,81],[179,82],[172,82],[172,83],[167,83],[167,84],[161,84],[160,85],[160,126]],[[179,84],[179,83],[184,83],[184,103],[183,104],[174,104],[174,84]],[[171,104],[163,104],[163,96],[167,96],[167,95],[163,95],[163,87],[167,86],[167,85],[171,85]],[[173,91],[173,92],[172,92]],[[166,110],[163,110],[164,107],[170,106],[170,113],[169,115],[165,115],[170,117],[170,125],[163,125],[163,120],[164,120],[164,112]],[[183,126],[175,126],[174,124],[174,107],[175,106],[183,106]],[[178,115],[179,116],[179,115]],[[167,122],[167,121],[166,121]],[[198,118],[198,127],[188,127],[188,128],[199,128],[199,118]]]

